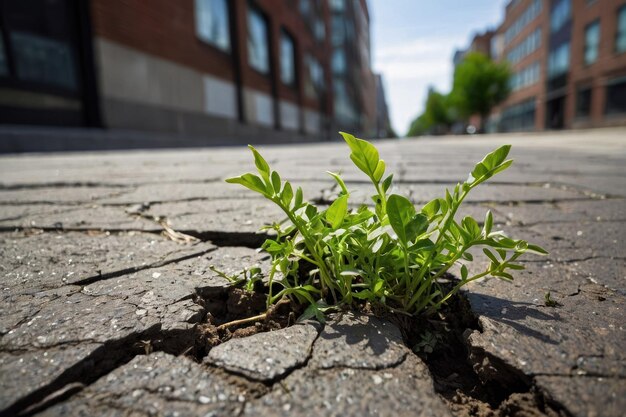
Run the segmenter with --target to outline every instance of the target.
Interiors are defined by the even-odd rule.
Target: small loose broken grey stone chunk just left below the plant
[[[296,324],[285,329],[231,339],[211,349],[206,363],[259,381],[272,381],[306,363],[319,325]]]

